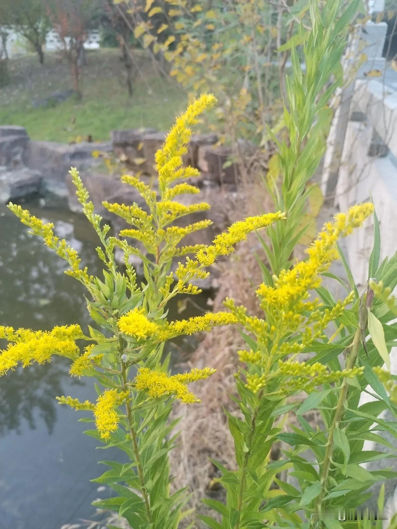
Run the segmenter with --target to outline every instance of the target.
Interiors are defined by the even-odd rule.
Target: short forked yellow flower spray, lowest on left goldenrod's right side
[[[134,380],[136,389],[148,391],[152,398],[159,398],[163,395],[174,395],[178,400],[186,404],[200,402],[191,391],[188,390],[188,382],[204,380],[211,376],[215,369],[192,369],[189,373],[168,376],[167,373],[152,371],[142,367]]]

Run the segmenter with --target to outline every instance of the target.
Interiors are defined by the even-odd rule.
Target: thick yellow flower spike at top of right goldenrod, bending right
[[[264,310],[268,307],[284,311],[295,309],[297,303],[308,298],[308,290],[320,286],[320,274],[329,268],[332,261],[338,259],[335,244],[338,238],[351,233],[373,211],[372,203],[359,204],[351,207],[347,214],[335,215],[333,223],[324,224],[317,240],[306,250],[309,259],[296,263],[290,270],[282,270],[278,277],[274,276],[274,287],[265,284],[259,286],[257,294],[262,299],[261,306]]]

